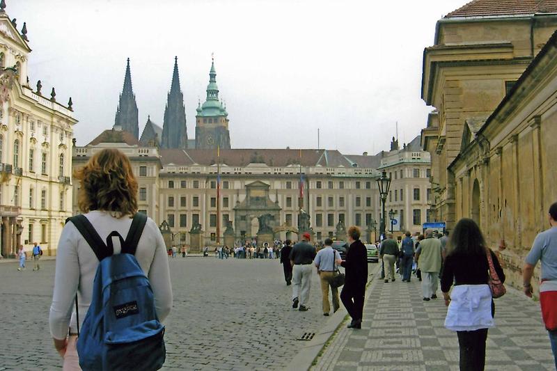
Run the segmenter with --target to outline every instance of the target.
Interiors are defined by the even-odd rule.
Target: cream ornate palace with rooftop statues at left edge
[[[19,244],[41,244],[54,253],[72,214],[72,101],[65,106],[29,86],[31,54],[26,24],[21,33],[0,3],[0,216],[1,255]]]

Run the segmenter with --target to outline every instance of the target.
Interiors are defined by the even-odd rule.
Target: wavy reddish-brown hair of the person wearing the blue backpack
[[[118,218],[137,212],[137,180],[130,159],[119,150],[95,153],[74,171],[74,178],[81,185],[77,196],[81,212],[103,210]]]

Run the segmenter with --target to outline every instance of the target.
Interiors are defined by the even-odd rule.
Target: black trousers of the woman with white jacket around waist
[[[457,331],[460,347],[460,371],[483,371],[487,329]]]

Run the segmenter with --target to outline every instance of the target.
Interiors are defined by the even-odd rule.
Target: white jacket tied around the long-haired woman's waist
[[[445,327],[452,331],[475,331],[495,326],[489,285],[457,285],[450,293]]]

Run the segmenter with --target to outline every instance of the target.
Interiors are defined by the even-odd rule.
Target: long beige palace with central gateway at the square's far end
[[[379,152],[375,156],[367,153],[343,155],[336,150],[230,149],[220,150],[217,157],[217,150],[144,146],[130,133],[112,129],[84,147],[74,147],[73,166],[83,166],[102,148],[122,150],[132,160],[139,181],[139,210],[159,225],[166,221],[175,244],[190,244],[190,232],[196,228],[201,230],[203,244],[216,244],[218,202],[221,242],[226,226],[235,240],[257,237],[263,226],[271,228],[276,238],[297,239],[299,224],[304,223],[299,220],[301,208],[310,217],[317,241],[342,236],[352,225],[359,226],[363,239],[371,241],[375,240],[372,222],[380,218],[377,169],[402,171],[408,178],[404,182],[415,184],[417,181],[419,187],[427,182],[427,153],[415,148],[415,142],[403,150]],[[416,153],[423,156],[419,161],[411,158]],[[406,160],[407,154],[410,157]],[[391,159],[394,156],[404,159],[395,163]],[[219,200],[217,162],[221,180]],[[413,177],[415,168],[420,168],[419,180]],[[301,205],[300,171],[303,180]],[[395,175],[392,176],[394,179]],[[394,184],[408,189],[409,195],[413,192],[410,185],[401,185],[398,180],[393,180]],[[74,184],[74,205],[77,205],[77,187],[78,184]],[[422,188],[425,195],[425,186]],[[427,200],[422,196],[419,201],[409,202],[407,209],[397,207],[403,210],[419,208],[425,214]],[[78,212],[75,206],[74,212]],[[425,220],[417,221],[413,225],[409,219],[405,227],[421,230]]]

